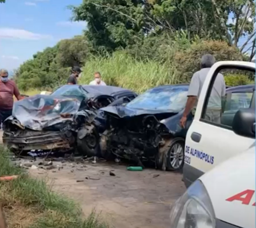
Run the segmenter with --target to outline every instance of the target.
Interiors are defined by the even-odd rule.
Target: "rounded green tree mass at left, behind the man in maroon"
[[[84,36],[59,41],[54,47],[47,47],[23,63],[15,72],[15,81],[22,90],[63,85],[70,68],[85,63],[88,47]]]

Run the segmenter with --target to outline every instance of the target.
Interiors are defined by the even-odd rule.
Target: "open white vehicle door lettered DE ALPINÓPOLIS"
[[[183,167],[183,181],[186,186],[219,163],[235,154],[242,153],[255,142],[253,138],[235,134],[231,126],[206,120],[211,90],[215,78],[223,69],[247,70],[255,74],[255,64],[249,62],[225,61],[215,63],[211,67],[198,99],[194,120],[186,135],[185,156],[187,159]],[[238,101],[238,108],[240,106]]]

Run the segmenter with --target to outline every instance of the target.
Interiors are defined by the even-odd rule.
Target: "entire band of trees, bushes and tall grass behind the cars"
[[[87,22],[86,30],[23,63],[14,75],[23,92],[64,85],[70,67],[77,65],[83,68],[80,83],[88,83],[94,71],[100,71],[108,85],[140,93],[189,82],[206,53],[217,61],[251,61],[255,55],[253,0],[85,0],[70,10],[74,21]],[[231,86],[254,79],[225,77]]]

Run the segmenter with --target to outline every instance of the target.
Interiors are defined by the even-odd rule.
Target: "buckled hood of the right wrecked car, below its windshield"
[[[154,115],[154,114],[162,114],[162,113],[172,113],[177,114],[177,111],[172,110],[145,110],[145,109],[131,109],[126,106],[107,106],[103,107],[101,109],[102,111],[105,111],[105,113],[116,115],[119,118],[125,118],[125,117],[135,117],[138,115]]]

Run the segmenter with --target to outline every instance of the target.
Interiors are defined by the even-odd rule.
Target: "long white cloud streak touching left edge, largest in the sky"
[[[31,31],[23,29],[1,28],[0,27],[0,39],[50,39],[51,35],[32,33]]]

